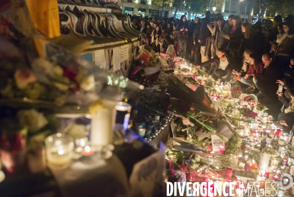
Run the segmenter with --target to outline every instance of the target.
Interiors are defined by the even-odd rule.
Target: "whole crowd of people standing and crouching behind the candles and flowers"
[[[294,16],[277,15],[273,26],[244,23],[238,15],[221,13],[188,20],[132,17],[132,26],[143,33],[155,53],[170,45],[176,55],[189,59],[222,82],[243,85],[259,101],[283,103],[279,121],[294,125]],[[209,47],[208,47],[209,46]]]

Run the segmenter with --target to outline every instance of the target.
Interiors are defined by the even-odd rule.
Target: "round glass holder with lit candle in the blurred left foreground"
[[[53,134],[46,138],[47,165],[51,169],[66,169],[73,158],[73,137],[66,134]]]

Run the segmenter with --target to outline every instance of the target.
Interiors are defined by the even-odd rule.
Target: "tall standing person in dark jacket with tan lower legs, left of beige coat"
[[[210,24],[210,11],[205,12],[205,18],[201,20],[201,27],[200,27],[200,35],[198,38],[198,42],[200,44],[200,53],[201,53],[201,62],[205,62],[209,60],[208,54],[204,56],[205,52],[205,44],[206,39],[211,36],[211,32],[209,28],[207,28],[207,25]]]

